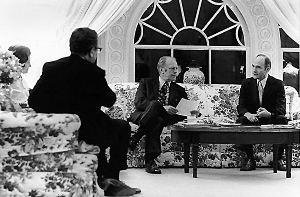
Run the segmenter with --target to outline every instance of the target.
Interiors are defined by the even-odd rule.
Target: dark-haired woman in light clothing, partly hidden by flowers
[[[19,58],[19,62],[22,64],[22,73],[27,73],[30,64],[30,49],[22,45],[12,45],[8,48],[9,51],[13,51],[13,54]],[[20,77],[11,84],[11,100],[15,103],[24,103],[29,96],[29,88],[26,82]]]

